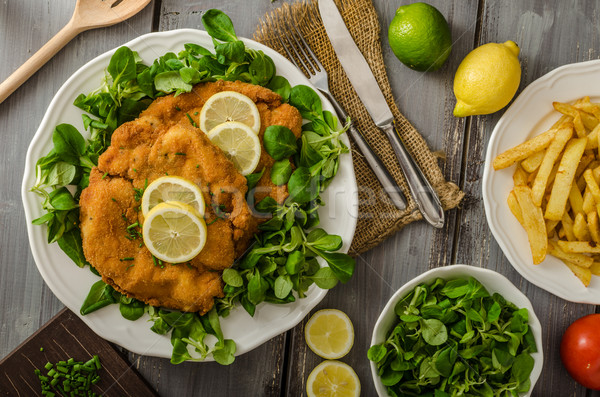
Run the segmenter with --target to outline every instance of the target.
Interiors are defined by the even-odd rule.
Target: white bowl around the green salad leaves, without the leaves
[[[400,289],[396,291],[394,295],[392,295],[388,303],[381,311],[381,314],[375,323],[375,327],[373,328],[371,346],[385,341],[387,333],[396,324],[398,319],[398,316],[396,316],[396,313],[394,312],[396,303],[408,295],[417,285],[421,283],[430,284],[436,278],[449,280],[465,277],[473,277],[477,279],[490,294],[497,292],[507,301],[514,303],[517,307],[524,307],[529,311],[529,327],[533,333],[533,337],[535,338],[535,343],[538,348],[536,353],[531,354],[535,361],[530,375],[531,387],[529,392],[522,394],[522,396],[530,396],[535,383],[540,377],[544,363],[544,354],[542,352],[542,325],[540,324],[540,320],[538,320],[537,316],[535,315],[533,306],[531,306],[529,299],[527,299],[527,297],[506,277],[492,270],[467,265],[451,265],[429,270],[420,276],[413,278],[400,287]],[[377,364],[373,361],[371,361],[371,375],[373,376],[373,381],[375,382],[377,394],[379,394],[381,397],[388,396],[386,387],[383,385],[383,383],[381,383],[381,379],[377,374]]]

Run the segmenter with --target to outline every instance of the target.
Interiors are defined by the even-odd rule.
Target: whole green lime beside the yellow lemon
[[[388,29],[396,57],[411,69],[439,69],[452,50],[452,35],[444,16],[425,3],[401,6]]]

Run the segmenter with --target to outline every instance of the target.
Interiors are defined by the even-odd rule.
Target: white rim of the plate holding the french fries
[[[570,95],[570,96],[563,94],[565,96],[561,97],[561,92],[552,92],[552,90],[556,89],[555,85],[557,83],[559,83],[561,79],[568,78],[571,75],[580,75],[581,76],[581,75],[587,75],[587,74],[591,74],[591,73],[595,73],[595,74],[600,73],[600,59],[589,60],[589,61],[584,61],[584,62],[575,62],[575,63],[570,63],[570,64],[559,66],[559,67],[551,70],[550,72],[544,74],[543,76],[539,77],[538,79],[534,80],[533,82],[531,82],[517,96],[517,98],[514,100],[514,102],[511,104],[511,106],[506,110],[506,112],[498,120],[498,122],[496,123],[496,126],[494,127],[492,134],[490,136],[490,140],[487,145],[485,163],[484,163],[484,169],[483,169],[482,198],[483,198],[483,203],[484,203],[484,208],[485,208],[486,220],[488,223],[488,227],[490,228],[490,230],[492,232],[492,235],[494,236],[496,242],[500,246],[500,249],[502,250],[503,254],[508,259],[511,266],[519,274],[521,274],[522,277],[524,277],[527,281],[536,285],[537,287],[539,287],[553,295],[556,295],[559,298],[562,298],[564,300],[567,300],[570,302],[575,302],[575,303],[598,305],[598,304],[600,304],[600,294],[598,293],[599,290],[593,289],[593,288],[598,288],[598,286],[600,285],[600,284],[598,284],[598,283],[600,283],[600,280],[598,280],[600,277],[595,277],[596,280],[594,280],[594,277],[592,278],[592,283],[594,283],[595,287],[592,286],[591,288],[584,287],[579,280],[575,279],[575,281],[577,281],[580,284],[580,287],[578,287],[577,290],[574,292],[573,290],[568,289],[570,284],[566,285],[564,283],[564,280],[559,280],[559,277],[556,277],[556,279],[540,278],[538,275],[536,275],[534,273],[534,271],[535,271],[534,266],[540,267],[540,266],[544,266],[544,265],[548,266],[549,264],[554,264],[555,266],[560,265],[559,268],[561,268],[561,273],[564,273],[567,277],[575,278],[575,276],[572,274],[572,272],[564,264],[561,264],[559,262],[560,261],[559,259],[548,255],[541,264],[533,265],[531,263],[530,252],[528,251],[529,260],[525,261],[526,263],[521,263],[521,261],[518,259],[519,254],[516,252],[517,249],[514,248],[515,246],[511,244],[511,240],[506,235],[506,231],[503,230],[503,228],[501,228],[499,225],[499,223],[500,223],[499,217],[501,216],[500,212],[502,212],[502,215],[505,215],[507,212],[508,212],[508,214],[510,214],[510,211],[508,209],[508,206],[505,204],[506,197],[501,197],[501,200],[498,200],[494,196],[494,193],[497,193],[497,190],[499,189],[499,187],[494,186],[494,183],[493,183],[493,181],[495,179],[495,173],[499,173],[502,171],[511,172],[510,175],[512,177],[512,170],[514,169],[514,166],[508,167],[504,170],[498,170],[498,171],[495,171],[492,169],[493,158],[497,154],[500,153],[500,150],[499,150],[500,149],[499,148],[500,139],[502,138],[503,133],[505,132],[505,129],[508,127],[508,124],[510,123],[510,121],[513,118],[517,117],[520,112],[524,112],[523,108],[528,103],[531,103],[531,101],[535,100],[536,96],[542,95],[546,91],[548,91],[549,94],[546,94],[546,98],[544,99],[544,101],[550,107],[552,107],[552,101],[572,101],[574,99],[583,97],[585,95],[590,95],[590,93],[588,92],[588,93],[580,93],[579,95]],[[592,91],[592,90],[589,89],[589,91]],[[574,97],[571,97],[571,96],[574,96]],[[596,96],[600,96],[600,90],[597,90]],[[542,115],[540,115],[540,116],[542,116]],[[534,119],[534,120],[536,120],[536,119]],[[538,119],[538,122],[539,122],[539,119]],[[529,133],[531,134],[531,132],[532,131],[530,131]],[[530,136],[537,135],[540,132],[542,132],[542,131],[538,131],[537,133],[534,133]],[[519,142],[517,142],[517,143],[523,142],[523,140],[524,139],[520,139]],[[508,147],[506,149],[508,149]],[[506,150],[506,149],[503,149],[503,150]],[[510,219],[511,219],[511,221],[516,223],[516,225],[518,225],[516,219],[514,219],[514,216],[512,214],[510,214]],[[525,231],[522,229],[522,227],[520,225],[518,225],[518,230],[521,233],[525,233]],[[525,239],[526,238],[527,237],[525,235]],[[527,248],[529,249],[529,246],[527,246]],[[595,295],[594,295],[594,293],[595,293]]]

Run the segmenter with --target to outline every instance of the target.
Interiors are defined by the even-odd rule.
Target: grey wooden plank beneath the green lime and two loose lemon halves
[[[402,4],[405,3],[410,2]],[[455,42],[447,64],[436,72],[422,73],[407,68],[394,56],[387,44],[387,27],[396,8],[401,5],[399,3],[375,2],[382,29],[382,50],[400,111],[425,137],[431,150],[440,152],[440,166],[446,178],[458,183],[464,135],[462,121],[455,119],[452,109],[448,110],[448,107],[453,106],[451,82],[461,60],[456,54],[472,48],[474,33],[464,34],[463,26],[476,20],[477,1],[428,3],[453,21],[451,29]],[[424,222],[408,225],[380,246],[359,256],[352,280],[331,290],[315,308],[314,311],[322,308],[340,309],[353,321],[354,347],[341,361],[355,369],[361,381],[362,395],[376,395],[367,350],[380,310],[407,281],[431,268],[451,264],[456,215],[456,210],[448,211],[446,225],[441,230]],[[307,320],[292,331],[286,395],[305,393],[306,378],[322,361],[307,348],[304,341],[303,327]]]

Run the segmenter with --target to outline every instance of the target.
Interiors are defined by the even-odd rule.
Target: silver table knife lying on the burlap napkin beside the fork
[[[437,193],[410,156],[394,127],[390,110],[369,64],[356,46],[333,0],[319,0],[319,11],[331,45],[340,60],[350,83],[371,115],[375,125],[387,136],[400,168],[406,177],[410,193],[423,218],[432,226],[444,226],[444,210]]]

